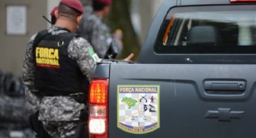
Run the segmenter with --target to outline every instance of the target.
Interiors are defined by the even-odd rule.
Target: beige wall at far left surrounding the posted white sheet
[[[52,0],[53,1],[53,0]],[[8,35],[6,6],[25,5],[27,7],[27,34]],[[36,32],[46,29],[42,15],[46,15],[46,1],[42,0],[0,0],[0,70],[20,75],[28,40]]]

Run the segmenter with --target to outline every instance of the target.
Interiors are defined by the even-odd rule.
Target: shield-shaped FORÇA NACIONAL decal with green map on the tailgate
[[[117,127],[132,134],[160,128],[160,85],[118,85]]]

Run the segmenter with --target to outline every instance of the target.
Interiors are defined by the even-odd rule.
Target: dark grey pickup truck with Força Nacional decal
[[[90,138],[255,138],[256,0],[165,0],[136,64],[98,64]]]

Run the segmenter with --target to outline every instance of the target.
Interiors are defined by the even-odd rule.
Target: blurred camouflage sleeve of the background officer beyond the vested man
[[[95,23],[92,29],[91,36],[92,46],[99,58],[104,58],[107,53],[108,47],[112,41],[111,35],[108,32],[107,26],[98,25]]]

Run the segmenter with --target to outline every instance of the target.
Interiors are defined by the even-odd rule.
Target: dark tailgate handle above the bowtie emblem
[[[207,91],[245,91],[243,81],[205,81],[204,88]]]

